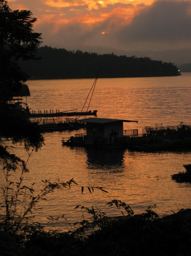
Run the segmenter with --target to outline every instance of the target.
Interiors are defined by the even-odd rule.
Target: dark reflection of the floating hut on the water
[[[97,149],[86,148],[88,169],[117,169],[124,168],[125,150],[122,148]]]

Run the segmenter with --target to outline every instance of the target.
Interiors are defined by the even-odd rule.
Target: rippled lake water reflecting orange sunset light
[[[81,111],[94,79],[28,81],[30,109]],[[125,123],[124,129],[145,126],[171,126],[191,122],[191,73],[179,77],[98,79],[89,109],[97,109],[97,117],[138,120]],[[82,117],[83,118],[83,117]],[[142,213],[149,205],[162,216],[181,208],[191,207],[191,183],[177,183],[173,173],[183,171],[183,164],[191,163],[190,152],[134,152],[128,149],[91,149],[63,147],[62,137],[70,137],[84,130],[45,133],[45,145],[33,152],[25,182],[42,187],[41,180],[71,178],[79,184],[70,191],[49,195],[35,213],[36,220],[49,225],[49,215],[65,215],[71,223],[81,219],[82,211],[76,205],[94,206],[108,216],[121,215],[106,203],[112,199],[124,201],[135,213]],[[24,160],[28,153],[20,145],[14,151]],[[104,187],[109,193],[81,186]],[[54,223],[66,230],[65,222]]]

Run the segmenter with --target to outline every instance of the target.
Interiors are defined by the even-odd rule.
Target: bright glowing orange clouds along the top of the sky
[[[140,8],[154,0],[9,0],[13,9],[31,10],[37,22],[64,23],[80,22],[94,24],[108,17],[129,23]],[[134,7],[134,9],[132,8]],[[36,24],[35,24],[36,26]]]

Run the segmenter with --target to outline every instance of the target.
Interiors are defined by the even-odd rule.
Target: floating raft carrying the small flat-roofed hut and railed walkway
[[[63,138],[63,145],[93,147],[141,147],[146,144],[170,144],[172,140],[191,138],[191,126],[148,127],[142,129],[123,130],[123,122],[138,122],[121,119],[88,118],[79,122],[86,123],[87,132]]]

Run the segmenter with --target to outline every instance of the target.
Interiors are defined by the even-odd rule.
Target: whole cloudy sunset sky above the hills
[[[31,10],[43,44],[67,50],[191,47],[191,0],[8,0]]]

